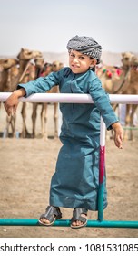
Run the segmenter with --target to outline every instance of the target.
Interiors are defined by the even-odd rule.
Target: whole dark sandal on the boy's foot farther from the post
[[[61,219],[61,218],[62,218],[62,213],[60,211],[60,208],[48,206],[45,210],[45,213],[40,216],[38,221],[40,224],[44,226],[51,226],[54,224],[54,221],[56,219]],[[45,223],[41,221],[41,219],[48,219],[50,223]]]

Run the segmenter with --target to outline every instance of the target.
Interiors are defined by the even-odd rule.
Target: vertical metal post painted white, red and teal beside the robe
[[[100,128],[100,161],[99,161],[99,191],[98,191],[98,220],[104,219],[104,169],[105,169],[105,124],[101,117]]]

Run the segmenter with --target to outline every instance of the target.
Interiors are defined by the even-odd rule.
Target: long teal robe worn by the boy
[[[60,103],[63,114],[59,152],[50,188],[50,205],[64,208],[97,210],[99,188],[99,151],[101,115],[108,130],[118,122],[109,97],[101,81],[92,70],[74,74],[64,68],[58,72],[19,84],[26,97],[41,93],[59,85],[61,93],[90,94],[91,103]],[[104,176],[104,208],[107,206],[106,177]]]

